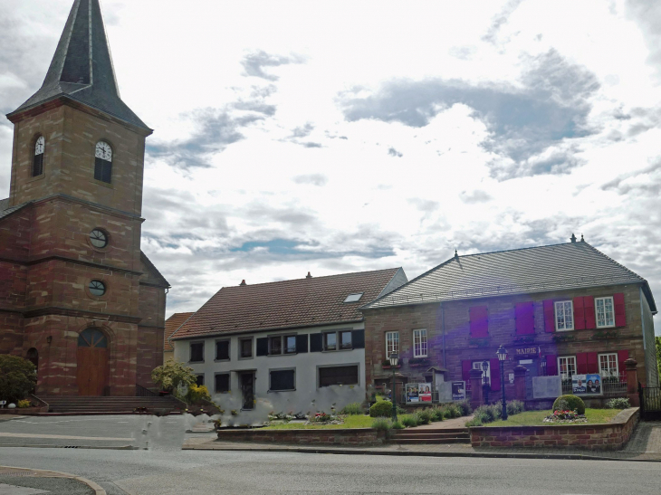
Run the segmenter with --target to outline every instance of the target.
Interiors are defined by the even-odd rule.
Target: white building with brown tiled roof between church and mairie
[[[401,268],[225,287],[170,338],[177,361],[237,423],[365,400],[359,307],[407,281]]]

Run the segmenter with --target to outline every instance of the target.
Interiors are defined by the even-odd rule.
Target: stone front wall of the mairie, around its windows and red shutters
[[[599,329],[582,329],[568,332],[549,333],[544,328],[544,300],[573,300],[580,296],[612,296],[623,292],[626,304],[627,324],[620,328],[608,328],[615,338],[599,338]],[[520,302],[533,302],[534,333],[518,336],[516,334],[515,305]],[[398,331],[402,367],[398,374],[409,381],[417,381],[423,370],[407,365],[412,357],[412,335],[417,328],[427,329],[430,366],[442,366],[449,370],[447,380],[462,379],[462,361],[482,361],[496,357],[496,350],[503,344],[509,351],[510,359],[505,362],[505,392],[509,398],[514,396],[514,385],[508,376],[514,366],[519,364],[514,358],[517,347],[540,347],[540,356],[532,366],[539,366],[546,356],[574,356],[586,352],[617,352],[627,349],[629,357],[638,362],[638,376],[645,384],[647,369],[643,345],[640,290],[637,284],[604,286],[580,290],[561,290],[553,292],[503,296],[496,298],[453,300],[443,303],[445,322],[445,363],[443,361],[443,332],[441,330],[440,304],[420,304],[387,309],[369,309],[365,311],[366,366],[368,383],[374,383],[381,377],[389,378],[388,371],[381,368],[385,356],[385,333]],[[474,306],[486,306],[488,311],[488,337],[472,338],[470,335],[469,309]],[[646,328],[648,333],[650,329]],[[653,331],[653,329],[651,330]],[[604,332],[602,331],[602,334]],[[573,340],[562,341],[564,336]],[[531,366],[531,365],[527,365]],[[425,368],[426,370],[426,368]],[[620,369],[624,372],[624,369]]]

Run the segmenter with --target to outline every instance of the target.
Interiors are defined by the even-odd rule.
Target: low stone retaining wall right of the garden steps
[[[479,426],[470,429],[474,447],[557,447],[618,451],[633,433],[639,409],[631,407],[607,424],[549,424],[544,426]]]

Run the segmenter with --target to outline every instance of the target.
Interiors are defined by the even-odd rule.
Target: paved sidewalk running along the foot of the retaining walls
[[[617,452],[599,452],[581,449],[558,448],[474,448],[466,443],[453,444],[388,444],[375,447],[305,446],[283,443],[221,442],[204,439],[189,440],[183,450],[196,451],[261,451],[261,452],[311,452],[363,455],[417,455],[430,457],[503,457],[528,459],[587,459],[606,461],[661,462],[661,422],[641,423],[627,448]]]

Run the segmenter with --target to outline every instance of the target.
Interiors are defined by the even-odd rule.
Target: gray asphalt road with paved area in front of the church
[[[118,423],[118,418],[122,418],[119,421],[131,419],[125,424]],[[181,451],[180,445],[187,436],[184,431],[190,427],[185,418],[178,418],[178,423],[172,417],[160,418],[162,421],[157,424],[152,421],[151,425],[146,416],[110,416],[104,422],[68,418],[73,421],[64,424],[53,423],[54,419],[30,418],[32,423],[14,420],[0,424],[0,433],[21,430],[35,434],[48,431],[63,436],[78,433],[78,436],[112,437],[131,432],[137,437],[136,442],[150,442],[149,450],[5,447],[0,448],[0,464],[71,472],[101,484],[109,495],[658,495],[661,492],[661,463],[656,462]]]

